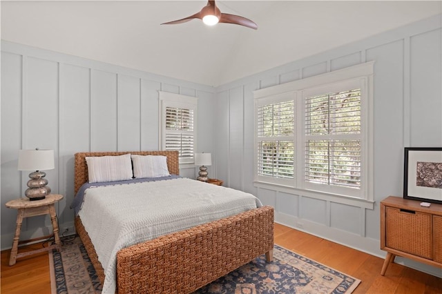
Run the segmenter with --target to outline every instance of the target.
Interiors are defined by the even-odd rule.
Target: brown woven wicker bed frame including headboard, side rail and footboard
[[[75,154],[75,193],[88,181],[85,157],[105,155],[165,155],[169,172],[179,175],[177,151],[96,152]],[[88,233],[75,217],[75,228],[104,282]],[[271,261],[273,208],[253,210],[135,244],[117,253],[118,293],[191,293],[247,264],[259,255]]]

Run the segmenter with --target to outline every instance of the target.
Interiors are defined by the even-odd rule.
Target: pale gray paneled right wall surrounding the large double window
[[[274,206],[277,222],[383,257],[379,202],[403,193],[403,148],[442,146],[441,23],[441,15],[425,19],[218,87],[218,177]],[[252,91],[367,61],[374,61],[374,209],[254,186]],[[440,269],[406,263],[441,275]]]

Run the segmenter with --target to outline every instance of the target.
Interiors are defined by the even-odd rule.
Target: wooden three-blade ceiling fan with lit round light
[[[207,5],[202,8],[200,12],[197,12],[190,17],[184,17],[184,19],[178,19],[176,21],[169,21],[162,24],[177,24],[191,21],[192,19],[202,19],[208,26],[214,26],[217,23],[233,23],[240,26],[246,26],[247,28],[253,28],[256,30],[258,26],[256,23],[245,17],[239,15],[221,13],[220,9],[216,6],[215,0],[207,1]]]

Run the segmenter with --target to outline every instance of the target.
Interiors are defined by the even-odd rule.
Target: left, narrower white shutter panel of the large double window
[[[257,108],[258,176],[294,179],[294,100]]]

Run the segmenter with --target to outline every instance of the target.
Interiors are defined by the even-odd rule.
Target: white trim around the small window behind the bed
[[[197,134],[198,134],[198,97],[191,97],[171,92],[158,91],[159,94],[159,148],[164,150],[166,148],[166,107],[186,108],[193,110],[193,154],[197,150]],[[195,157],[191,162],[182,162],[180,159],[180,168],[194,168],[193,164]]]

